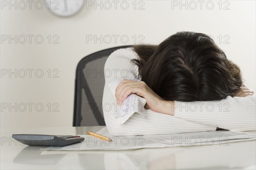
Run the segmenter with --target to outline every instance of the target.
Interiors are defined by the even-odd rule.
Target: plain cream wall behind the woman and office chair
[[[14,74],[1,76],[1,128],[72,126],[75,71],[81,58],[105,48],[138,44],[142,38],[141,42],[158,44],[177,31],[195,31],[212,35],[227,58],[241,68],[244,84],[253,91],[256,90],[254,0],[221,1],[221,9],[219,1],[214,0],[212,10],[207,9],[205,5],[207,1],[204,1],[202,9],[198,1],[194,1],[198,5],[195,10],[192,9],[194,6],[190,1],[182,1],[188,6],[187,9],[186,6],[181,6],[180,9],[180,5],[172,6],[171,0],[148,0],[143,1],[144,10],[134,10],[132,2],[134,1],[129,1],[131,7],[127,10],[123,10],[120,6],[110,10],[97,7],[95,10],[94,6],[88,8],[84,3],[81,11],[71,17],[58,17],[47,8],[1,9],[1,36],[44,37],[44,42],[41,44],[36,43],[33,38],[31,44],[28,42],[15,44],[14,41],[11,43],[4,41],[0,44],[1,72],[17,69],[21,75],[21,77],[19,75],[15,77]],[[180,3],[180,1],[176,2]],[[224,10],[226,5],[229,9]],[[49,44],[47,39],[49,35],[51,38],[57,35],[59,43]],[[107,39],[102,42],[98,40],[96,43],[87,42],[87,37],[94,35],[111,36],[113,39],[110,43]],[[113,35],[119,36],[116,42]],[[120,40],[121,36],[128,37],[128,42],[124,43],[125,40]],[[137,37],[136,40],[134,36]],[[27,74],[24,78],[22,78],[23,69]],[[31,78],[27,69],[34,69]],[[44,73],[41,78],[35,76],[35,70],[38,69]],[[53,78],[53,74],[57,72],[58,78]],[[37,76],[39,73],[41,72],[38,72]],[[17,107],[12,108],[15,103]],[[26,105],[25,110],[24,105]],[[31,110],[29,105],[32,106]],[[43,105],[44,109],[37,111],[35,105],[39,110]],[[54,108],[58,112],[54,112]]]

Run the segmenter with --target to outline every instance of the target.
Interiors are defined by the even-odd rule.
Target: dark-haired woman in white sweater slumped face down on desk
[[[134,114],[120,125],[103,108],[112,135],[149,135],[216,130],[255,130],[255,96],[242,85],[239,67],[206,34],[178,32],[159,45],[114,51],[105,63],[103,106],[135,93],[147,100],[147,117]],[[122,74],[123,71],[128,74]],[[116,101],[108,84],[116,87]],[[141,81],[136,82],[133,79]]]

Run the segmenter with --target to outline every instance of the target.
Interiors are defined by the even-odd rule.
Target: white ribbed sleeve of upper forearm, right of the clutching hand
[[[256,130],[255,96],[231,97],[209,102],[177,102],[174,116],[230,131]]]

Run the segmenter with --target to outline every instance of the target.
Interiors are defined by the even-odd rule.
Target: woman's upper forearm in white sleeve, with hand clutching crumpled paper
[[[255,96],[244,86],[233,98],[227,96],[217,101],[178,102],[163,100],[145,82],[126,79],[116,87],[117,102],[122,103],[131,93],[147,99],[148,108],[158,113],[233,131],[256,130]]]

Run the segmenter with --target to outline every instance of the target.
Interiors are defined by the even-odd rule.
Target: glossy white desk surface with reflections
[[[0,169],[256,169],[255,140],[230,142],[229,146],[216,144],[119,151],[43,151],[40,148],[44,147],[21,146],[11,138],[15,133],[77,135],[88,130],[96,132],[101,128],[1,129]]]

